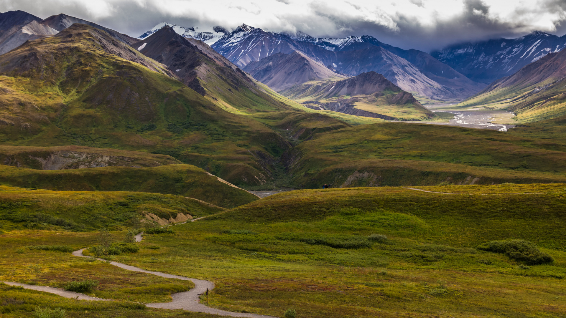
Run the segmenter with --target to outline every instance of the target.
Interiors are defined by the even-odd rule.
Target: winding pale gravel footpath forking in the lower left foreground
[[[136,235],[136,242],[141,241],[141,234],[143,233]],[[83,255],[84,250],[85,248],[83,248],[82,250],[74,251],[72,252],[72,255],[79,257],[88,257]],[[103,259],[98,259],[98,260],[106,261]],[[131,270],[132,272],[148,273],[166,278],[177,278],[178,280],[191,281],[195,284],[195,287],[189,291],[183,291],[182,293],[171,294],[171,298],[173,298],[172,302],[145,304],[145,306],[147,307],[163,308],[163,309],[182,309],[193,312],[211,313],[213,315],[220,315],[220,316],[248,317],[248,318],[277,318],[275,316],[258,315],[256,313],[241,313],[241,312],[219,310],[199,303],[200,300],[199,295],[206,293],[207,289],[212,290],[214,288],[214,283],[212,283],[211,281],[196,280],[195,278],[187,278],[183,276],[171,275],[161,272],[152,272],[151,270],[145,270],[138,267],[118,263],[115,261],[111,261],[110,264],[117,266],[119,268]],[[4,283],[12,286],[22,286],[25,289],[45,291],[46,293],[57,294],[65,298],[74,298],[77,300],[106,300],[106,301],[112,300],[112,299],[95,298],[85,294],[75,293],[73,291],[66,291],[63,289],[49,287],[49,286],[35,286],[35,285],[28,285],[24,283],[15,283],[15,282],[4,282]]]

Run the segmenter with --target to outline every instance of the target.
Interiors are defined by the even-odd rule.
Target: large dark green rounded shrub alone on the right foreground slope
[[[492,240],[478,246],[479,250],[503,253],[510,259],[524,262],[527,265],[550,263],[552,257],[541,252],[537,245],[528,240]]]

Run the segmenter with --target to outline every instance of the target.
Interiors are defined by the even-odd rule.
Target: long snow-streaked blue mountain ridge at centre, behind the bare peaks
[[[337,72],[356,76],[375,71],[404,91],[433,99],[463,99],[485,87],[423,51],[395,48],[371,36],[314,38],[243,24],[211,47],[239,67],[276,53],[299,51]]]

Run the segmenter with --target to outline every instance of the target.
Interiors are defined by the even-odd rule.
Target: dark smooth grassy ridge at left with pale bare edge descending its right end
[[[36,170],[0,165],[0,183],[15,187],[59,191],[137,191],[188,196],[232,208],[258,197],[235,188],[192,165],[151,168],[97,167]]]

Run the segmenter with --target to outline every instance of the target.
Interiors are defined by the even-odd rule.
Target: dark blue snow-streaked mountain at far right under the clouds
[[[565,46],[566,36],[534,31],[518,38],[451,45],[431,55],[470,79],[491,83]]]

